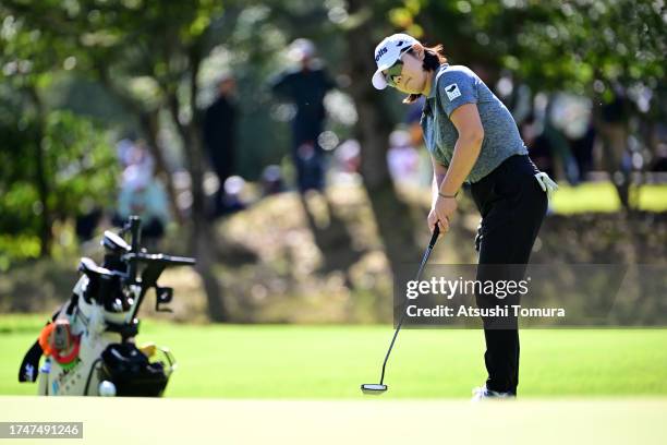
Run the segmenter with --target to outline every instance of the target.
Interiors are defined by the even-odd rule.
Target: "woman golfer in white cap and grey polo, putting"
[[[522,279],[525,264],[558,188],[527,156],[517,124],[502,103],[466,67],[449,65],[442,47],[424,47],[414,37],[395,34],[375,49],[373,86],[407,93],[404,103],[426,101],[422,129],[434,170],[428,228],[449,230],[463,182],[471,184],[482,214],[477,233],[477,280]],[[545,193],[546,192],[546,193]],[[512,265],[512,266],[509,266]],[[478,293],[480,308],[518,300]],[[514,397],[519,384],[519,330],[514,316],[483,316],[488,378],[474,399]]]

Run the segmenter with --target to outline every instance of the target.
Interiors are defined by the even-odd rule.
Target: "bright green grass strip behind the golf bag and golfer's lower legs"
[[[0,316],[0,394],[19,384],[45,316]],[[391,326],[179,325],[143,321],[137,342],[168,346],[179,369],[168,397],[359,398],[377,383]],[[667,395],[667,329],[525,329],[520,395]],[[469,397],[484,383],[480,330],[404,330],[383,398]]]

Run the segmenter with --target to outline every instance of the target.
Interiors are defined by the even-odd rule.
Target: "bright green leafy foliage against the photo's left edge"
[[[53,222],[77,216],[86,197],[108,202],[117,169],[99,127],[45,107],[43,92],[53,71],[63,69],[63,60],[68,67],[66,44],[54,44],[48,32],[10,14],[2,16],[0,232],[5,234],[0,237],[0,266],[5,268],[11,257],[48,255]]]

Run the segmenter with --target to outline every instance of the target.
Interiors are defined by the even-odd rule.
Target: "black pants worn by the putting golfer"
[[[547,195],[535,173],[538,170],[527,156],[506,159],[488,176],[472,184],[472,195],[482,214],[477,280],[521,280],[533,243],[547,209]],[[519,296],[498,299],[477,294],[480,308],[519,304]],[[511,312],[510,312],[511,314]],[[513,315],[484,317],[488,372],[486,387],[517,394],[519,385],[519,329]]]

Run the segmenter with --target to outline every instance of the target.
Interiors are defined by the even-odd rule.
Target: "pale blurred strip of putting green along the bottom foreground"
[[[278,401],[0,397],[3,421],[83,422],[72,444],[664,444],[667,399]],[[21,440],[22,444],[44,440]],[[59,441],[59,443],[62,443]]]

